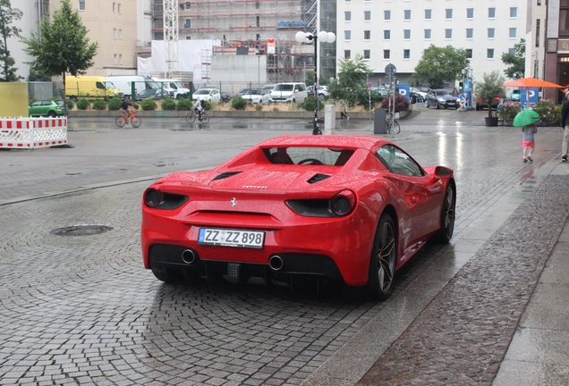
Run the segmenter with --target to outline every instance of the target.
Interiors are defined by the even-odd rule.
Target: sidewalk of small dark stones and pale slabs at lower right
[[[532,183],[357,385],[569,383],[569,165]]]

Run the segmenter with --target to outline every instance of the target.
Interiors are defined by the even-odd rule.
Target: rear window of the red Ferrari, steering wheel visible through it
[[[321,164],[343,166],[353,149],[330,147],[269,147],[263,149],[272,164]]]

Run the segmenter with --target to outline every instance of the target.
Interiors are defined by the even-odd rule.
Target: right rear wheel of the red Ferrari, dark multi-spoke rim
[[[372,298],[389,298],[395,281],[397,236],[395,222],[389,214],[382,214],[373,241],[369,259],[368,290]]]

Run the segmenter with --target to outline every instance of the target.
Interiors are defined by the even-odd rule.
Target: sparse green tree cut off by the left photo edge
[[[2,79],[0,81],[16,81],[21,77],[16,75],[17,68],[13,67],[13,57],[10,56],[8,50],[8,38],[16,37],[20,34],[21,29],[11,25],[14,20],[21,19],[21,11],[18,8],[12,8],[10,0],[0,0],[0,35],[2,42],[0,43],[0,63],[2,63]]]

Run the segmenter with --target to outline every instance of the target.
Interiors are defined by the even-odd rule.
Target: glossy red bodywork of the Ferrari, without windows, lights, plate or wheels
[[[361,286],[369,278],[379,217],[389,208],[396,217],[396,266],[401,267],[439,230],[444,193],[453,173],[441,178],[435,167],[423,168],[425,175],[418,177],[389,172],[375,155],[386,144],[391,143],[363,136],[285,136],[251,147],[215,169],[175,172],[157,180],[149,189],[188,198],[172,209],[149,207],[143,198],[144,266],[153,268],[150,250],[154,245],[191,248],[203,262],[267,265],[275,254],[327,256],[346,284]],[[271,147],[350,148],[354,152],[343,166],[272,164],[263,152]],[[225,175],[230,177],[216,180]],[[329,177],[313,182],[315,175]],[[286,203],[330,199],[346,189],[357,201],[352,212],[342,217],[301,215]],[[264,231],[264,245],[201,245],[201,227]]]

